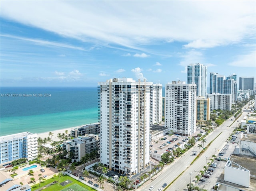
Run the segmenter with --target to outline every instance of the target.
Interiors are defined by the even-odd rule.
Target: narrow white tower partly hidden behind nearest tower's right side
[[[150,124],[162,121],[162,84],[150,87]]]

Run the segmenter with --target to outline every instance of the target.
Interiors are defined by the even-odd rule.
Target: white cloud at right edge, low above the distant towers
[[[252,51],[247,55],[239,55],[236,57],[236,60],[228,63],[230,66],[235,67],[256,67],[256,52]],[[255,72],[255,71],[254,71]]]

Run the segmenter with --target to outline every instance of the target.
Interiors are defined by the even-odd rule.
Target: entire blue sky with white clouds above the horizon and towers
[[[256,76],[254,0],[2,0],[0,11],[1,86],[165,85],[191,63]]]

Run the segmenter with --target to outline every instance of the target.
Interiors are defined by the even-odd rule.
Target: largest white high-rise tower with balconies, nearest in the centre
[[[99,82],[100,162],[126,175],[149,165],[152,82],[114,78]]]

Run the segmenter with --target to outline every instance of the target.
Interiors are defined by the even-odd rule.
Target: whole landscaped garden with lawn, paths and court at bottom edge
[[[61,191],[61,190],[74,190],[72,187],[76,187],[76,191],[83,190],[83,191],[96,191],[95,189],[81,183],[80,181],[73,179],[68,175],[64,176],[56,176],[45,181],[42,181],[39,184],[32,186],[32,191],[35,190],[44,190],[44,191]],[[80,189],[80,187],[82,187]]]

